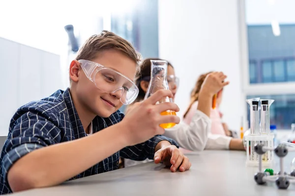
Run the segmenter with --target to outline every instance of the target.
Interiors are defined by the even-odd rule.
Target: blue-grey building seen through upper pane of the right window
[[[260,66],[262,73],[258,75],[257,82],[250,83],[294,81],[287,77],[289,66],[286,63],[287,59],[295,58],[295,21],[294,24],[280,24],[280,35],[273,33],[271,19],[269,24],[252,23],[247,23],[250,81],[253,73],[259,73]],[[251,64],[253,61],[257,62],[255,67]]]

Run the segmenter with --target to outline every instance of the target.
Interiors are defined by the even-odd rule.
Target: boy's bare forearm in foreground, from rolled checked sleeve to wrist
[[[128,146],[120,123],[91,136],[34,150],[8,172],[13,192],[60,184]]]

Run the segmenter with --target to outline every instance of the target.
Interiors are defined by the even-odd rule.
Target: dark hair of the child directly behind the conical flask
[[[145,96],[146,96],[146,92],[141,88],[140,82],[142,80],[149,82],[149,80],[150,80],[150,68],[151,68],[150,60],[163,60],[163,59],[146,58],[140,63],[140,65],[139,65],[140,73],[138,73],[136,75],[135,80],[134,80],[136,86],[139,89],[139,93],[138,93],[138,96],[137,96],[137,98],[135,99],[135,101],[133,103],[143,100],[145,98]],[[171,66],[172,68],[174,68],[170,62],[168,62],[168,66]]]

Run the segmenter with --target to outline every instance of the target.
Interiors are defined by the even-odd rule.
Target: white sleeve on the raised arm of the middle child
[[[179,147],[202,151],[206,146],[210,130],[210,118],[200,110],[196,110],[189,124],[180,122],[176,126],[166,129],[164,136],[175,140]]]

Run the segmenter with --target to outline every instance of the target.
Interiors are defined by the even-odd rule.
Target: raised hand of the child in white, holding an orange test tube
[[[203,92],[213,96],[229,84],[228,81],[224,81],[225,78],[227,78],[227,76],[222,72],[209,73],[203,82],[200,93]]]

